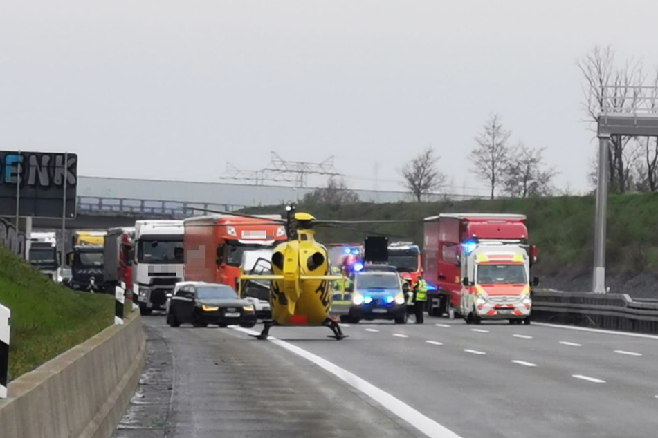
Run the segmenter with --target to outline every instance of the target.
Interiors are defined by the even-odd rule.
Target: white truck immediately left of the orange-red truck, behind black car
[[[164,310],[167,294],[183,280],[183,220],[138,220],[135,222],[133,293],[140,312]]]

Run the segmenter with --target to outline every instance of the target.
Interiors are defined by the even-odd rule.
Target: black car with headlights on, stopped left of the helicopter
[[[228,285],[217,283],[197,283],[185,285],[170,298],[167,311],[167,324],[179,327],[190,323],[194,327],[219,327],[240,325],[250,328],[256,325],[254,307],[248,301],[238,298]]]

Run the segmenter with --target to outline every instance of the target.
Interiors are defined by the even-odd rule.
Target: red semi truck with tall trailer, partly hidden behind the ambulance
[[[461,258],[478,242],[517,243],[528,251],[530,266],[537,248],[528,243],[526,216],[495,213],[444,213],[425,218],[424,278],[428,282],[428,312],[461,317]]]

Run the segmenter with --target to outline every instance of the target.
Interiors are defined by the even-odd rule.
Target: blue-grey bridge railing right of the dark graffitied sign
[[[208,214],[205,210],[237,211],[247,207],[237,204],[213,204],[210,202],[179,202],[134,198],[105,198],[78,196],[77,211],[80,213],[129,213],[135,215],[174,216],[188,218]]]

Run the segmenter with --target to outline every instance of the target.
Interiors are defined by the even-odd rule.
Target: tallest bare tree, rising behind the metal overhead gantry
[[[603,106],[614,111],[632,112],[637,107],[639,95],[637,87],[644,82],[641,61],[626,61],[623,68],[616,68],[615,53],[612,46],[596,46],[591,53],[578,61],[578,68],[585,79],[585,112],[590,122],[596,123]],[[610,88],[614,87],[614,88]],[[634,151],[627,151],[631,137],[614,135],[610,138],[610,190],[624,193],[632,188],[630,167],[634,166],[632,158],[637,158]]]

